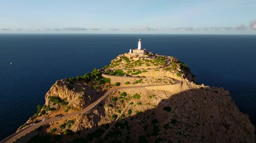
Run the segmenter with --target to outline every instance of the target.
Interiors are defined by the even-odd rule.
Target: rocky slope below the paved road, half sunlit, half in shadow
[[[180,92],[119,90],[88,113],[71,118],[74,124],[70,129],[79,135],[66,136],[67,141],[72,142],[73,138],[91,142],[138,142],[141,138],[147,142],[255,141],[254,126],[236,107],[228,91],[189,80],[184,80],[183,88]],[[126,97],[122,96],[124,92]],[[134,97],[136,94],[139,97]],[[61,123],[50,124],[47,132],[56,128],[62,133]],[[97,135],[99,130],[103,131]]]

